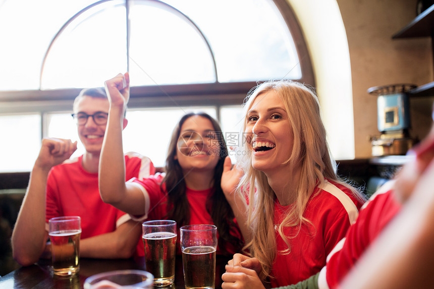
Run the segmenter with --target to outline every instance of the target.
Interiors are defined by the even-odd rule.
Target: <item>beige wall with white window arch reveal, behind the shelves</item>
[[[324,125],[336,159],[371,156],[378,136],[372,86],[434,78],[430,37],[392,39],[416,17],[416,0],[287,0],[313,63]],[[410,136],[422,139],[434,97],[410,99]]]

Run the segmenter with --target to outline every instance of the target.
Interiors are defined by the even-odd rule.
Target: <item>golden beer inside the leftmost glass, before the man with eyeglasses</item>
[[[72,275],[80,270],[81,229],[49,232],[53,272]]]

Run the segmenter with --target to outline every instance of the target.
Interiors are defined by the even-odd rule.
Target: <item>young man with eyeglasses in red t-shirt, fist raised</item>
[[[98,190],[99,154],[107,124],[109,103],[101,88],[84,89],[76,97],[73,118],[85,153],[70,159],[77,142],[45,138],[30,175],[12,234],[14,259],[31,265],[50,256],[47,245],[48,219],[81,217],[80,256],[87,258],[129,258],[143,255],[141,226],[131,217],[105,204]],[[128,121],[123,119],[123,127]],[[154,174],[149,158],[137,153],[125,155],[126,181]],[[137,249],[137,252],[136,252]]]

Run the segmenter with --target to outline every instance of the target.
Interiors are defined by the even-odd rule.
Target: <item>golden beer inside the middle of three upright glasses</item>
[[[154,275],[155,286],[167,286],[175,280],[176,237],[172,232],[154,232],[142,237],[146,271]]]

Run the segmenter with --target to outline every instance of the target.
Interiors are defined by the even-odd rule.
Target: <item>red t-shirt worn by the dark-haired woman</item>
[[[145,208],[147,214],[142,216],[140,219],[146,218],[147,220],[158,220],[165,219],[168,213],[168,197],[166,189],[161,190],[160,184],[162,179],[164,178],[163,174],[156,174],[155,176],[151,176],[147,179],[137,179],[134,178],[131,180],[133,183],[138,184],[143,191],[146,203],[149,204],[149,207]],[[187,187],[186,195],[187,200],[190,207],[190,223],[192,225],[195,224],[214,224],[212,221],[211,215],[206,210],[206,202],[211,195],[211,189],[196,191]],[[222,198],[225,196],[222,195]],[[137,218],[136,218],[137,219]],[[236,220],[234,219],[235,224]],[[178,230],[178,238],[177,238],[177,254],[181,254],[181,248],[179,245],[179,226],[177,224]],[[231,234],[238,239],[242,240],[241,233],[231,232]],[[240,241],[241,242],[241,241]],[[235,254],[235,252],[231,248],[229,248],[230,244],[228,244],[228,248],[226,248],[230,254]],[[217,246],[216,254],[221,254],[221,250],[219,245]]]

